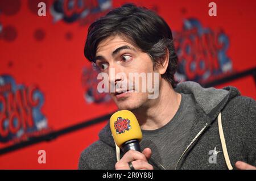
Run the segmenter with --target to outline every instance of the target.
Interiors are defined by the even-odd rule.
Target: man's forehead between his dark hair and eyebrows
[[[112,53],[116,48],[123,45],[128,45],[131,48],[138,49],[133,44],[131,44],[131,41],[126,40],[122,36],[115,35],[102,40],[98,44],[96,56],[98,54]]]

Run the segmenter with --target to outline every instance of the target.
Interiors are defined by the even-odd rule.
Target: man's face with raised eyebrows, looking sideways
[[[129,78],[129,73],[146,73],[146,75],[147,73],[154,73],[154,64],[147,53],[142,52],[139,48],[128,43],[121,36],[111,36],[98,44],[96,65],[102,72],[108,74],[109,87],[111,83],[112,85],[113,83],[116,85],[117,83],[123,82],[125,80],[124,76],[127,78],[127,83],[130,81],[130,85],[133,85],[133,87],[129,87],[127,84],[126,90],[122,94],[117,94],[117,90],[115,90],[115,92],[109,91],[119,110],[134,110],[142,106],[148,106],[150,99],[148,99],[148,91],[142,91],[142,86],[145,86],[142,82],[142,78],[139,78],[139,86],[135,86],[135,83],[138,83],[138,81],[136,82],[134,78]],[[114,74],[110,73],[112,70],[114,70]],[[155,70],[155,72],[156,71],[157,70]],[[120,76],[120,73],[122,73],[123,76]],[[118,74],[119,76],[116,76]],[[154,85],[152,85],[154,84],[152,83],[154,82],[154,74],[152,74],[151,82],[147,81],[147,77],[146,80],[143,81],[144,83],[146,81],[146,85],[150,83],[150,86],[154,87]],[[136,89],[136,87],[139,87],[139,89]],[[121,86],[119,90],[124,91],[123,88],[124,87]]]

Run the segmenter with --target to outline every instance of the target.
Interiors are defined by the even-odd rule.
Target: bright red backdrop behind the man
[[[46,2],[46,16],[38,16],[38,2]],[[95,83],[90,82],[89,79],[92,68],[83,56],[83,49],[89,23],[128,1],[87,1],[89,3],[84,7],[89,10],[89,14],[86,14],[85,9],[80,11],[76,8],[61,12],[61,7],[63,8],[68,2],[72,1],[64,1],[64,3],[55,0],[0,1],[0,94],[3,97],[0,113],[2,117],[5,115],[3,102],[8,104],[11,99],[8,98],[8,91],[11,90],[4,87],[8,80],[15,81],[12,86],[23,86],[26,90],[36,86],[40,96],[36,91],[30,96],[34,100],[41,98],[42,105],[37,107],[35,115],[34,112],[31,113],[32,120],[39,121],[44,118],[42,123],[47,125],[42,126],[44,129],[37,127],[31,131],[32,133],[42,130],[57,131],[81,121],[112,113],[117,109],[113,102],[108,100],[108,96],[93,92],[92,87],[95,87]],[[219,52],[220,57],[216,59],[219,63],[223,63],[218,64],[218,68],[222,68],[222,71],[210,74],[207,78],[192,77],[190,78],[192,81],[209,82],[255,68],[256,1],[214,1],[217,5],[217,16],[208,15],[210,9],[208,4],[212,1],[129,2],[157,11],[176,33],[174,33],[177,35],[175,37],[185,32],[185,22],[191,19],[196,20],[190,21],[192,25],[197,22],[213,34],[221,32],[225,35],[223,39],[227,47],[224,48],[223,43],[220,45],[223,52],[222,54]],[[216,35],[216,39],[221,37]],[[177,39],[177,49],[183,43],[184,41]],[[192,47],[193,45],[195,44],[192,44]],[[181,48],[182,50],[184,51]],[[199,49],[196,49],[195,53],[200,53],[198,51]],[[188,75],[188,72],[183,70],[181,66],[180,74]],[[189,77],[185,76],[185,79]],[[228,85],[238,87],[242,95],[256,98],[255,82],[251,76],[216,87]],[[93,95],[88,93],[90,89]],[[13,92],[15,99],[18,94],[15,90]],[[90,95],[89,98],[86,98],[86,95]],[[6,115],[9,120],[10,115],[9,111]],[[13,126],[12,135],[11,130],[5,132],[10,127],[7,123],[8,120],[1,122],[0,149],[26,141],[27,138],[20,139],[19,136],[24,133],[17,128],[17,125]],[[105,124],[106,121],[65,134],[49,142],[39,142],[1,154],[0,169],[77,169],[81,151],[97,140],[97,134]],[[39,134],[43,133],[39,132]],[[38,150],[46,150],[46,164],[38,163]]]

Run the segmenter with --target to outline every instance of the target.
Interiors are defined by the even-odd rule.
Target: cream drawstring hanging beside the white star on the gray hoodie
[[[226,141],[225,141],[223,128],[222,128],[222,123],[221,123],[221,113],[218,114],[218,133],[220,134],[221,146],[222,146],[224,158],[225,158],[225,161],[226,161],[226,166],[228,166],[229,170],[233,170],[233,167],[230,163],[228,150],[226,149]]]

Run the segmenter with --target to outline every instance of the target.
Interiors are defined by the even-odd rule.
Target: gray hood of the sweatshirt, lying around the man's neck
[[[210,123],[205,122],[207,124],[211,124],[217,118],[218,114],[231,99],[240,95],[236,87],[228,86],[224,87],[224,89],[210,87],[205,89],[199,83],[189,81],[179,83],[175,91],[193,95],[196,101],[196,109],[210,118]],[[115,148],[109,121],[98,136],[102,142]]]

